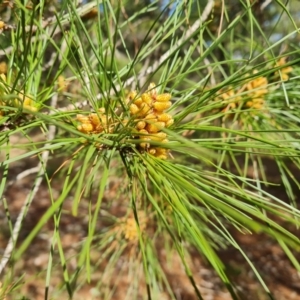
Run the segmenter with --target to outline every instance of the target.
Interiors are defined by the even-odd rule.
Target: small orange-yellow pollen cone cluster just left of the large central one
[[[111,133],[113,131],[112,119],[105,113],[104,108],[100,108],[98,113],[78,114],[76,119],[80,123],[77,130],[82,133]]]

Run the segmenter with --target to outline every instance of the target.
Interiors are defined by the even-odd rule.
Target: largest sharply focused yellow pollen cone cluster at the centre
[[[151,141],[167,143],[167,134],[163,128],[171,126],[174,122],[172,116],[165,111],[171,107],[171,94],[158,94],[155,84],[151,83],[148,90],[141,96],[136,91],[130,92],[128,101],[130,114],[135,118],[135,128],[139,144],[143,151],[160,158],[167,159],[169,150],[164,147],[151,145]]]

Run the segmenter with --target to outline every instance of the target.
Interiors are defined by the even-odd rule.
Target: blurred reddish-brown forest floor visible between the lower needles
[[[276,183],[276,185],[273,185],[272,188],[269,189],[269,192],[284,201],[288,201],[285,189],[283,188],[280,181],[280,176],[278,175],[278,170],[276,171],[272,161],[266,162],[266,164],[266,170],[269,174],[271,174],[272,177],[270,181]],[[26,165],[24,164],[24,161],[22,161],[22,163],[14,163],[9,174],[9,179],[13,179],[24,169],[28,169],[35,165],[36,160],[34,159],[29,159],[26,162]],[[249,170],[249,172],[250,171],[251,170]],[[5,193],[10,216],[13,222],[16,220],[20,212],[26,195],[32,188],[32,182],[34,179],[33,176],[28,176],[23,180],[14,183],[7,189]],[[300,174],[296,178],[300,178]],[[110,182],[110,188],[105,194],[107,200],[115,199],[115,197],[117,197],[119,184],[120,179],[118,178]],[[53,180],[52,187],[55,197],[61,190],[61,183],[59,180]],[[46,183],[43,183],[23,222],[19,236],[19,243],[24,240],[31,229],[37,224],[43,213],[48,209],[50,205],[49,199],[48,186]],[[300,194],[297,202],[300,203]],[[76,256],[76,249],[78,249],[77,246],[84,240],[87,234],[88,225],[88,204],[85,204],[83,201],[79,214],[76,217],[72,216],[71,207],[72,199],[70,198],[64,203],[63,214],[60,222],[60,237],[63,249],[65,251],[65,256],[69,258],[68,268],[70,273],[76,269],[76,260],[73,259],[73,257]],[[118,212],[118,209],[123,209],[121,206],[114,206],[112,209],[115,210],[114,213],[116,215],[122,214],[122,211]],[[101,224],[99,224],[99,226],[101,227]],[[22,299],[22,296],[25,297],[23,299],[30,300],[45,299],[45,277],[53,228],[53,222],[49,221],[31,243],[22,259],[14,264],[14,273],[20,275],[23,274],[24,276],[22,277],[22,284],[18,291],[7,295],[7,300]],[[243,234],[237,230],[232,230],[231,234],[235,237],[238,244],[262,275],[274,299],[300,300],[300,275],[292,266],[288,257],[285,255],[276,241],[262,234]],[[294,234],[299,235],[299,232],[297,233],[294,231]],[[0,207],[0,258],[7,245],[8,239],[9,229],[4,208],[2,206]],[[174,253],[174,255],[171,257],[171,263],[170,260],[168,263],[166,263],[166,253],[162,247],[160,248],[159,245],[157,253],[159,255],[159,261],[167,275],[168,281],[170,282],[176,298],[178,300],[197,299],[194,294],[193,287],[185,275],[179,256]],[[95,253],[91,253],[92,262],[93,260],[96,261],[99,255],[101,255],[101,253],[97,253],[96,251]],[[219,255],[223,260],[231,279],[233,282],[235,282],[236,290],[239,292],[241,299],[270,299],[264,293],[264,290],[258,282],[254,272],[251,270],[251,267],[237,249],[231,247],[220,251]],[[300,261],[299,253],[295,253],[295,255],[298,261]],[[231,299],[230,294],[226,290],[225,286],[222,285],[220,279],[213,269],[193,249],[191,249],[191,257],[191,266],[194,278],[203,298],[205,300]],[[54,269],[52,274],[49,295],[51,299],[67,299],[68,296],[66,292],[61,294],[57,292],[63,282],[63,270],[59,263],[59,256],[54,257],[54,259],[58,260],[56,262],[54,260],[54,264],[57,263],[57,267]],[[129,260],[130,257],[128,257],[128,253],[124,253],[124,255],[120,258],[120,261],[117,264],[117,268],[120,268],[120,270],[115,270],[115,272],[119,272],[117,284],[107,282],[103,285],[106,286],[107,290],[110,290],[114,286],[115,290],[112,297],[114,300],[125,299],[124,295],[126,295],[128,286],[132,279],[130,276],[133,276],[132,274],[129,274],[130,272],[128,272],[128,269],[126,271],[126,266],[128,265]],[[12,268],[12,265],[9,265],[8,269],[9,268]],[[99,270],[93,274],[91,282],[89,284],[82,284],[77,288],[77,291],[74,295],[74,300],[103,299],[103,296],[97,295],[94,287],[97,285],[99,278],[105,281],[105,278],[101,277],[104,268],[105,265],[103,264],[99,266]],[[136,276],[136,274],[134,274],[134,276]],[[15,280],[16,279],[18,278],[16,277]],[[145,286],[143,286],[142,283],[138,290],[140,295],[145,295]],[[169,298],[167,295],[162,294],[160,295],[159,299],[164,300]]]

